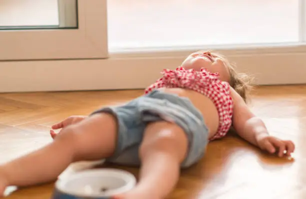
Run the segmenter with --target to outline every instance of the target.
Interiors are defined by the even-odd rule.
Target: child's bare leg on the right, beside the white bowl
[[[167,122],[149,124],[139,151],[139,182],[130,192],[114,198],[165,198],[178,181],[180,163],[186,156],[187,145],[187,137],[177,125]]]

